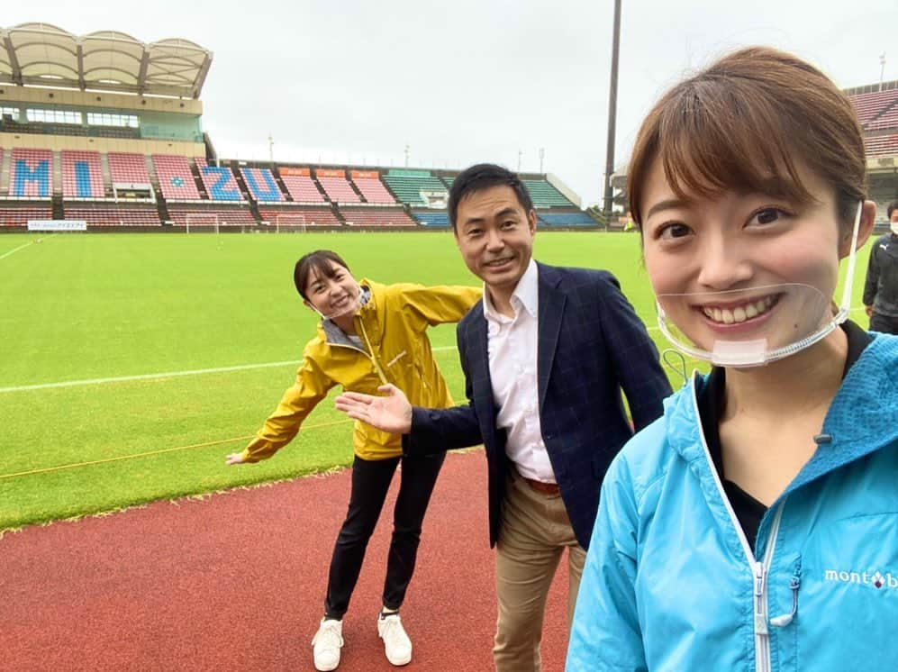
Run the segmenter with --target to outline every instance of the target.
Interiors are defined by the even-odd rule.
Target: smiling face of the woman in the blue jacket
[[[833,190],[798,168],[810,204],[733,190],[682,198],[658,161],[649,168],[640,204],[649,280],[669,321],[703,350],[759,339],[778,348],[829,320],[850,230]]]

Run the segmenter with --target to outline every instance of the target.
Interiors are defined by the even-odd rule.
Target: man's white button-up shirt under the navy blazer
[[[539,339],[539,272],[530,265],[512,293],[514,317],[498,313],[484,287],[493,401],[499,409],[496,426],[508,432],[505,453],[523,477],[555,483],[549,453],[542,442],[540,393],[537,383]]]

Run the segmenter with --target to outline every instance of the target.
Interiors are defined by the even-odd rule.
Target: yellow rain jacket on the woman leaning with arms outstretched
[[[332,322],[322,320],[318,334],[305,345],[295,384],[243,450],[245,462],[274,455],[296,436],[313,408],[331,387],[377,395],[392,383],[415,406],[447,408],[453,404],[440,368],[433,360],[427,328],[458,322],[480,300],[479,287],[380,285],[359,283],[368,300],[356,313],[356,333],[365,350],[349,341]],[[359,458],[388,459],[402,454],[399,435],[356,422],[353,447]]]

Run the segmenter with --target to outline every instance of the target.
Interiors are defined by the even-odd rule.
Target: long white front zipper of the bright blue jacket
[[[692,394],[695,417],[701,418],[702,416],[698,412],[698,395],[694,385],[694,377]],[[699,431],[699,437],[702,440],[705,459],[707,459],[708,464],[712,466],[713,460],[711,458],[711,450],[708,450],[708,442],[704,439],[704,431]],[[770,533],[767,537],[764,560],[763,562],[758,562],[755,559],[755,554],[751,547],[748,546],[748,538],[745,536],[745,532],[742,531],[742,526],[739,524],[736,512],[733,511],[732,504],[730,504],[730,500],[723,490],[721,476],[713,466],[711,467],[711,475],[717,486],[717,492],[721,495],[723,505],[726,507],[727,513],[730,516],[730,522],[732,522],[733,527],[736,528],[736,533],[739,535],[739,541],[742,544],[742,550],[745,552],[748,567],[751,569],[752,577],[754,577],[754,590],[752,592],[754,594],[755,614],[755,672],[769,672],[771,666],[770,633],[767,629],[767,575],[770,573],[770,563],[773,561],[774,548],[776,547],[776,535],[779,533],[779,523],[783,516],[783,504],[785,503],[785,499],[776,506],[774,520],[770,525]]]

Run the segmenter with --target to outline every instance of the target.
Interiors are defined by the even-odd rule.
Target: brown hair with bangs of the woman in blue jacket
[[[658,159],[677,197],[726,189],[809,204],[799,163],[836,193],[839,222],[866,197],[866,158],[848,97],[820,70],[784,51],[749,47],[674,86],[639,129],[627,170],[640,229],[649,169]]]

